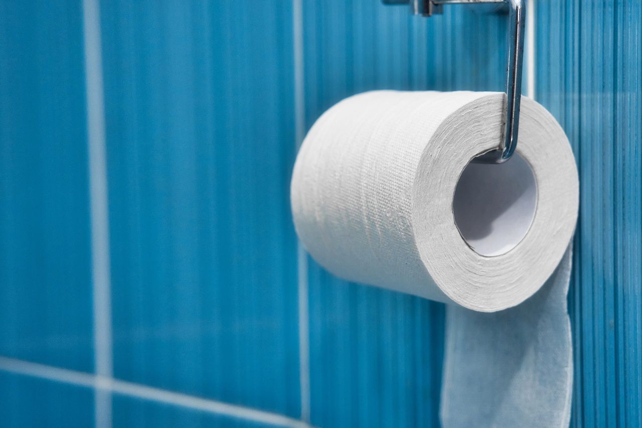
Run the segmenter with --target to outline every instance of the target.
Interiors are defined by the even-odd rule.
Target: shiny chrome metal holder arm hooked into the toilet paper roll
[[[444,4],[488,4],[508,6],[508,66],[506,80],[505,127],[499,147],[473,159],[476,163],[503,163],[510,159],[517,147],[519,131],[519,104],[524,58],[525,8],[522,0],[382,0],[384,4],[410,4],[410,12],[429,17],[442,13]]]

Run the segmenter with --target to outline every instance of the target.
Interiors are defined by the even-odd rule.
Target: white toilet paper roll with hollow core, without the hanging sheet
[[[304,247],[345,280],[473,310],[532,296],[573,235],[577,169],[563,130],[528,98],[517,156],[467,168],[498,147],[502,106],[498,93],[397,91],[334,105],[294,167]]]

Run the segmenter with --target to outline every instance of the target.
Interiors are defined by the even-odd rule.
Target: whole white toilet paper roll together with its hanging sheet
[[[512,175],[473,174],[471,159],[501,139],[504,100],[352,96],[311,128],[292,177],[297,234],[320,265],[447,303],[446,427],[569,424],[575,159],[553,117],[523,98]]]

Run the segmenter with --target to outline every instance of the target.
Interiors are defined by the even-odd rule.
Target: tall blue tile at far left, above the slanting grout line
[[[78,1],[0,4],[0,354],[91,371]]]

